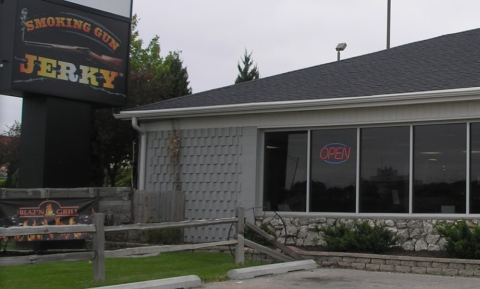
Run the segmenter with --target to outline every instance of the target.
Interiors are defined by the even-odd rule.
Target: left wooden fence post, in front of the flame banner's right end
[[[96,232],[93,234],[93,281],[105,281],[105,228],[103,226],[105,215],[102,213],[93,214],[93,224]]]

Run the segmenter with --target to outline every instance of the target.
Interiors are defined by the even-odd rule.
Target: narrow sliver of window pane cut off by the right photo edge
[[[480,123],[470,126],[470,213],[480,214]]]

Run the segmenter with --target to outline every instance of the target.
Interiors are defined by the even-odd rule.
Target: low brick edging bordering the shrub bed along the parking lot
[[[480,260],[423,258],[342,252],[299,252],[322,267],[415,273],[445,276],[480,277]]]

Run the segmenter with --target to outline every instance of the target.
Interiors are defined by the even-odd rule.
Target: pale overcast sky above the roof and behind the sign
[[[480,28],[479,0],[391,0],[391,47]],[[233,84],[245,48],[261,77],[386,48],[387,0],[134,0],[140,38],[182,51],[193,92]],[[472,48],[478,49],[478,48]],[[0,132],[21,99],[0,96]]]

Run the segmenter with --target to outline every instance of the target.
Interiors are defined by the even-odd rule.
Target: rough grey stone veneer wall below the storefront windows
[[[265,217],[257,219],[257,223],[266,223],[277,231],[278,240],[287,245],[315,246],[323,245],[322,236],[315,228],[335,226],[345,223],[353,227],[355,222],[368,222],[387,228],[398,236],[398,245],[408,251],[440,251],[444,248],[446,240],[435,229],[435,225],[442,223],[457,223],[457,220],[432,220],[432,219],[365,219],[365,218],[292,218],[292,217]],[[466,220],[470,225],[478,225],[480,220]],[[286,239],[286,240],[285,240]]]

